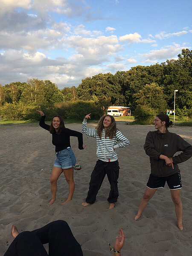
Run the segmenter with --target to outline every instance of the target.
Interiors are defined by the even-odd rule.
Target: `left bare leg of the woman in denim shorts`
[[[61,175],[62,172],[63,172],[62,168],[58,168],[58,167],[53,166],[52,172],[51,172],[51,178],[50,178],[51,201],[49,202],[47,207],[49,207],[51,204],[53,204],[55,202],[56,193],[57,193],[57,180],[58,180],[58,177]]]

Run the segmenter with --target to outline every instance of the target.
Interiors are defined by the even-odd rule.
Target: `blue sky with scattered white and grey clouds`
[[[189,0],[0,0],[0,84],[78,87],[192,49]]]

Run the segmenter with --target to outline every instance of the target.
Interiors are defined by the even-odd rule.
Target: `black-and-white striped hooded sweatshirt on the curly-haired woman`
[[[110,139],[109,137],[105,138],[105,129],[103,129],[100,140],[96,128],[87,128],[86,119],[84,119],[82,123],[82,133],[96,138],[96,154],[98,159],[104,162],[114,162],[117,160],[117,153],[113,150],[113,148],[125,148],[130,144],[129,140],[118,130],[116,131],[116,136],[113,137],[113,139]]]

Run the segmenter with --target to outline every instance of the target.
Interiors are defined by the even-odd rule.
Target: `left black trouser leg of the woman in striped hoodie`
[[[91,179],[89,183],[89,191],[87,193],[86,202],[93,204],[96,201],[96,195],[102,185],[105,178],[105,162],[97,160],[96,165],[91,174]]]

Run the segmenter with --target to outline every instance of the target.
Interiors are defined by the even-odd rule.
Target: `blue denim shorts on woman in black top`
[[[53,166],[68,169],[76,165],[76,156],[71,148],[66,148],[62,151],[55,152],[56,159]]]

